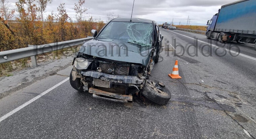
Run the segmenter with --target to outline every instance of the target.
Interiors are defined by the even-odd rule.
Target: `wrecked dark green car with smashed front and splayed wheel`
[[[154,21],[116,18],[92,34],[94,39],[80,48],[72,62],[74,89],[116,102],[133,101],[133,95],[158,104],[169,101],[169,91],[149,79],[163,39]]]

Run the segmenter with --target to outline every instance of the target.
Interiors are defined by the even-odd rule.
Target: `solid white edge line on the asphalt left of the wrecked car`
[[[26,107],[28,104],[34,102],[35,100],[39,99],[40,97],[42,97],[43,95],[49,93],[50,91],[54,90],[55,88],[57,88],[58,86],[60,86],[62,83],[66,82],[67,80],[69,80],[69,77],[66,78],[65,80],[59,82],[58,84],[54,85],[53,87],[51,87],[50,89],[44,91],[43,93],[39,94],[38,96],[34,97],[33,99],[27,101],[26,103],[22,104],[21,106],[19,106],[18,108],[10,111],[9,113],[5,114],[4,116],[2,116],[0,118],[0,122],[6,118],[8,118],[9,116],[11,116],[12,114],[14,114],[15,112],[21,110],[22,108]]]

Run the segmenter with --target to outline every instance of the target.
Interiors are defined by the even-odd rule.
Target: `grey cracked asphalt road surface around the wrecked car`
[[[167,105],[140,98],[122,104],[78,92],[65,81],[72,68],[72,58],[68,57],[0,79],[0,87],[6,88],[6,82],[25,76],[15,88],[3,89],[0,138],[255,138],[253,47],[232,43],[241,55],[233,57],[227,51],[221,56],[225,54],[222,48],[228,49],[230,43],[223,46],[204,35],[178,30],[161,29],[161,33],[164,35],[161,62],[155,65],[151,78],[164,82],[172,93]],[[211,50],[204,46],[207,43],[213,44]],[[189,47],[192,44],[198,48],[194,57],[193,46]],[[182,55],[183,47],[189,53],[185,51]],[[182,79],[168,77],[175,60],[179,60]],[[15,109],[17,112],[2,118]]]

